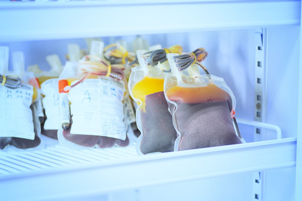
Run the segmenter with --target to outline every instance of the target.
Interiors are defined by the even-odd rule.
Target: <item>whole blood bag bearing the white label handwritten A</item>
[[[58,139],[69,148],[129,144],[124,123],[124,66],[101,59],[103,48],[103,42],[92,41],[90,55],[78,63],[66,62],[59,77],[59,96],[68,98],[71,118],[68,122],[66,117],[61,118],[62,126],[70,126],[58,130]],[[67,86],[62,88],[63,80]],[[66,108],[65,101],[60,104],[63,115],[69,106]]]

